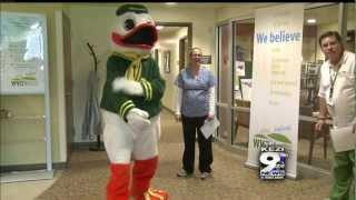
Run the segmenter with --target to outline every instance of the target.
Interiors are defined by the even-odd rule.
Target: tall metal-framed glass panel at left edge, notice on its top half
[[[1,12],[0,22],[1,172],[52,174],[46,17]]]

